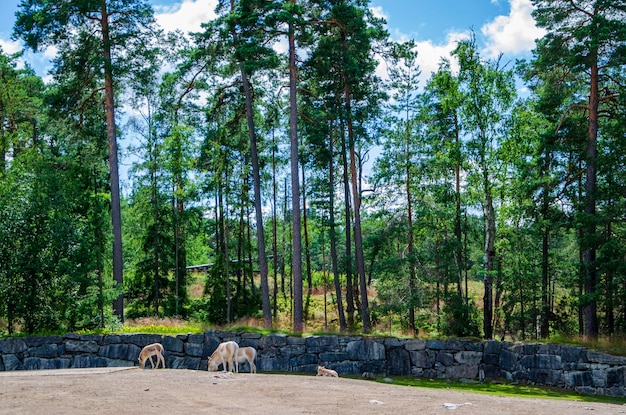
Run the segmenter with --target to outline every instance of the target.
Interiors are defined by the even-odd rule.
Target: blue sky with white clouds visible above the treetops
[[[22,49],[12,40],[15,12],[20,0],[0,2],[0,46],[4,53]],[[200,31],[200,24],[214,17],[217,0],[149,0],[157,22],[166,30]],[[371,0],[370,8],[387,20],[387,29],[396,41],[417,43],[421,85],[437,70],[441,57],[449,57],[456,42],[473,31],[481,56],[504,62],[530,57],[534,40],[543,32],[535,27],[530,13],[531,0]],[[44,77],[54,50],[33,54],[25,60]]]

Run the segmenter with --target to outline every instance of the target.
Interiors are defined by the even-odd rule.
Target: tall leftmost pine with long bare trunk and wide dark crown
[[[123,287],[122,220],[115,125],[114,79],[128,73],[132,59],[129,51],[138,51],[136,40],[142,38],[152,22],[152,9],[144,0],[70,0],[59,4],[54,0],[23,0],[16,13],[14,33],[28,47],[37,51],[51,45],[76,43],[76,50],[88,55],[96,46],[98,61],[91,61],[103,74],[104,108],[109,143],[111,181],[111,219],[113,229],[113,279]],[[94,42],[87,33],[98,33]],[[94,43],[96,43],[94,45]],[[123,295],[114,302],[114,312],[124,321]]]

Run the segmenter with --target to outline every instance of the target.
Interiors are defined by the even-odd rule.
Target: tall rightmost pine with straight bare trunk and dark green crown
[[[561,68],[559,82],[584,82],[586,87],[572,96],[563,118],[574,110],[583,110],[587,118],[587,142],[584,147],[584,203],[580,211],[585,291],[585,335],[599,333],[597,300],[600,278],[597,264],[598,234],[598,137],[602,109],[617,98],[612,72],[623,69],[626,58],[626,2],[534,0],[533,17],[547,30],[537,42],[533,65],[538,71]],[[579,99],[586,96],[586,102]],[[559,125],[557,130],[563,126]]]

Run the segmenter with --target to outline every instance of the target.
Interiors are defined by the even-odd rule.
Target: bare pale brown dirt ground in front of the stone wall
[[[313,375],[98,368],[0,372],[0,414],[626,414],[626,406],[496,397]]]

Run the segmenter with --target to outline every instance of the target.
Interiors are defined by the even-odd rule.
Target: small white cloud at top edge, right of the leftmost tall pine
[[[166,31],[180,30],[183,33],[200,32],[201,24],[216,17],[218,0],[183,0],[175,6],[155,7],[157,23]]]

